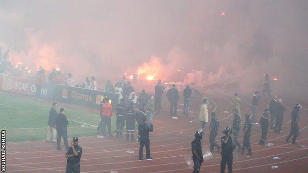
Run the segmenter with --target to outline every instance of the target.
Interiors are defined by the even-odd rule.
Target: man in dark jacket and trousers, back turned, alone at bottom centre
[[[146,146],[146,156],[147,160],[152,160],[151,151],[150,151],[150,135],[149,132],[153,132],[153,124],[148,123],[148,118],[144,117],[143,124],[138,125],[138,132],[140,135],[139,143],[139,161],[142,161],[143,156],[143,147]]]

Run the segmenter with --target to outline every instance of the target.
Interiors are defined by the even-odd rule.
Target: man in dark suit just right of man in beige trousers
[[[69,149],[69,144],[67,141],[67,125],[69,124],[69,121],[66,118],[66,115],[64,115],[64,108],[60,108],[60,113],[56,116],[56,126],[57,126],[57,150],[61,150],[60,148],[60,142],[61,137],[64,140],[65,149]]]

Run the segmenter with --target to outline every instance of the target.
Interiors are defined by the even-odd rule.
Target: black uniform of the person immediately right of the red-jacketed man
[[[117,104],[116,106],[116,137],[122,137],[123,127],[125,125],[125,112],[126,105],[124,103]]]

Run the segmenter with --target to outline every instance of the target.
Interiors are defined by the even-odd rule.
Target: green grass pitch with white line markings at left
[[[2,93],[0,95],[0,129],[6,129],[6,141],[45,139],[49,128],[47,122],[51,103],[51,101],[37,101],[31,97]],[[57,110],[62,106],[58,103]],[[82,107],[81,111],[69,107],[64,108],[69,119],[69,138],[96,135],[100,120],[98,114],[82,111]],[[112,131],[116,131],[115,115],[112,117]]]

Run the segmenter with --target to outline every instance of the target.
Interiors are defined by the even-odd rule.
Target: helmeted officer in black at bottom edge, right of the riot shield
[[[234,137],[232,136],[232,128],[226,127],[223,133],[226,136],[221,138],[222,142],[222,161],[220,162],[220,173],[225,173],[226,164],[228,164],[228,173],[232,173],[232,163],[233,163],[233,148]]]

